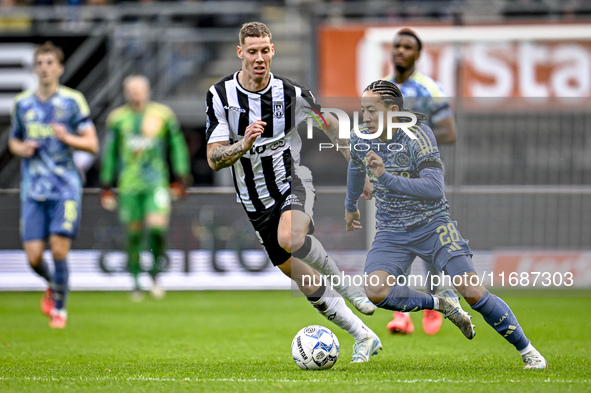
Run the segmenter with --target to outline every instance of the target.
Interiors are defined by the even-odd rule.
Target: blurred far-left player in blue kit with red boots
[[[48,283],[41,310],[52,328],[66,327],[67,257],[80,223],[82,181],[73,152],[98,151],[86,99],[59,84],[63,61],[62,50],[51,42],[37,48],[39,87],[15,98],[8,142],[10,151],[23,157],[21,237],[29,264]],[[48,239],[53,275],[43,260]]]

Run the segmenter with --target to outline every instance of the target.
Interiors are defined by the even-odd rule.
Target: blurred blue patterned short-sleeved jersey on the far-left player
[[[89,116],[84,96],[65,86],[47,101],[33,91],[14,99],[10,137],[39,144],[33,157],[22,160],[22,200],[80,200],[82,182],[74,166],[74,149],[55,137],[51,123],[64,124],[69,133],[78,134],[92,126]]]

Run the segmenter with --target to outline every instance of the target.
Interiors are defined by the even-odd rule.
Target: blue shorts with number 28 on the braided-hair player
[[[462,238],[455,222],[441,215],[408,232],[379,231],[367,254],[365,273],[383,270],[400,276],[417,256],[443,271],[447,262],[459,255],[472,257],[468,241]]]

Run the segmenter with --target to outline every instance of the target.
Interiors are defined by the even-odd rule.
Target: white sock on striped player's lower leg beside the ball
[[[329,321],[353,336],[355,341],[371,335],[371,330],[347,307],[345,299],[329,287],[319,300],[310,303]]]

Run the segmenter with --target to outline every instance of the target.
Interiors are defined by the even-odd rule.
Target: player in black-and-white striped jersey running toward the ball
[[[322,281],[321,273],[341,274],[312,236],[312,174],[300,164],[296,126],[308,118],[308,107],[320,107],[308,89],[271,73],[274,47],[267,26],[243,25],[239,44],[242,69],[207,92],[209,165],[216,171],[231,167],[237,199],[273,265],[297,283],[322,315],[355,338],[353,362],[366,362],[381,348],[380,340],[342,296],[364,314],[373,314],[375,306],[361,288],[315,284]],[[336,142],[338,122],[333,117],[327,121],[325,132]],[[344,154],[348,157],[348,151]]]

